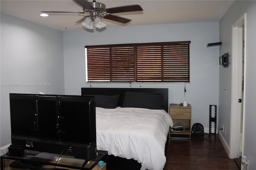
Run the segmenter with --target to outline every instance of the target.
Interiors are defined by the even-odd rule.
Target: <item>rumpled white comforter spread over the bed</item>
[[[97,149],[137,160],[150,170],[162,170],[166,137],[172,125],[164,110],[96,107]]]

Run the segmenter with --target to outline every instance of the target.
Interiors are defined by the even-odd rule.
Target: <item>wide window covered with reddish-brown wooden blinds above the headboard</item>
[[[88,82],[189,82],[190,42],[86,46]]]

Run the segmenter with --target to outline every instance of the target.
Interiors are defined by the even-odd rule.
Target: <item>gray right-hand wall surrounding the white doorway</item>
[[[226,14],[220,20],[220,54],[230,53],[232,56],[232,24],[246,13],[246,61],[244,82],[244,155],[249,159],[249,170],[256,167],[256,1],[234,1]],[[219,125],[226,127],[224,138],[230,142],[230,115],[231,115],[231,76],[232,61],[230,67],[220,67],[220,91],[219,91]],[[227,95],[224,89],[227,87]],[[239,125],[238,125],[239,126]]]

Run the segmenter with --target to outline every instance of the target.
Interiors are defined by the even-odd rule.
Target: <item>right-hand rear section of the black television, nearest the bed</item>
[[[61,97],[60,140],[86,144],[96,143],[96,124],[93,121],[95,115],[86,114],[94,109],[94,103],[90,100],[90,97]]]

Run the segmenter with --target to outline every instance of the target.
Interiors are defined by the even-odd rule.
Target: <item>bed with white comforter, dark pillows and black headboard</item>
[[[95,96],[97,149],[112,156],[109,170],[164,168],[165,143],[173,125],[168,89],[82,88],[82,95]]]

